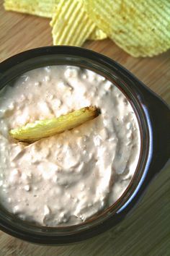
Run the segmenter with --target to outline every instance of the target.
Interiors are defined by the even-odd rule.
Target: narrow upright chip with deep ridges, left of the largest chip
[[[55,46],[82,46],[96,27],[80,0],[61,0],[50,25]]]

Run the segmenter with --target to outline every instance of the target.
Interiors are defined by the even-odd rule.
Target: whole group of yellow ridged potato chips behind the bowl
[[[169,0],[5,0],[4,7],[52,18],[54,45],[108,37],[135,57],[170,48]]]

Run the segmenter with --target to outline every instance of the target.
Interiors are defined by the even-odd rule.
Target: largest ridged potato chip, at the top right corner
[[[130,55],[154,56],[170,48],[169,0],[86,0],[91,20]]]

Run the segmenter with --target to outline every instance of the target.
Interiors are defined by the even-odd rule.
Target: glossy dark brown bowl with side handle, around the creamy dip
[[[0,64],[0,89],[31,69],[61,64],[91,69],[122,90],[138,118],[141,137],[140,159],[133,179],[120,199],[84,223],[57,228],[35,226],[8,213],[1,206],[1,230],[38,244],[79,242],[115,226],[136,205],[170,155],[169,107],[128,70],[102,54],[71,46],[50,46],[25,51]]]

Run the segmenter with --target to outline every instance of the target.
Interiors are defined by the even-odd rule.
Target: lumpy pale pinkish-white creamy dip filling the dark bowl
[[[61,116],[84,106],[96,119],[30,145],[9,129]],[[130,184],[140,153],[140,132],[125,95],[87,69],[34,69],[0,93],[0,200],[23,220],[73,225],[112,205]]]

